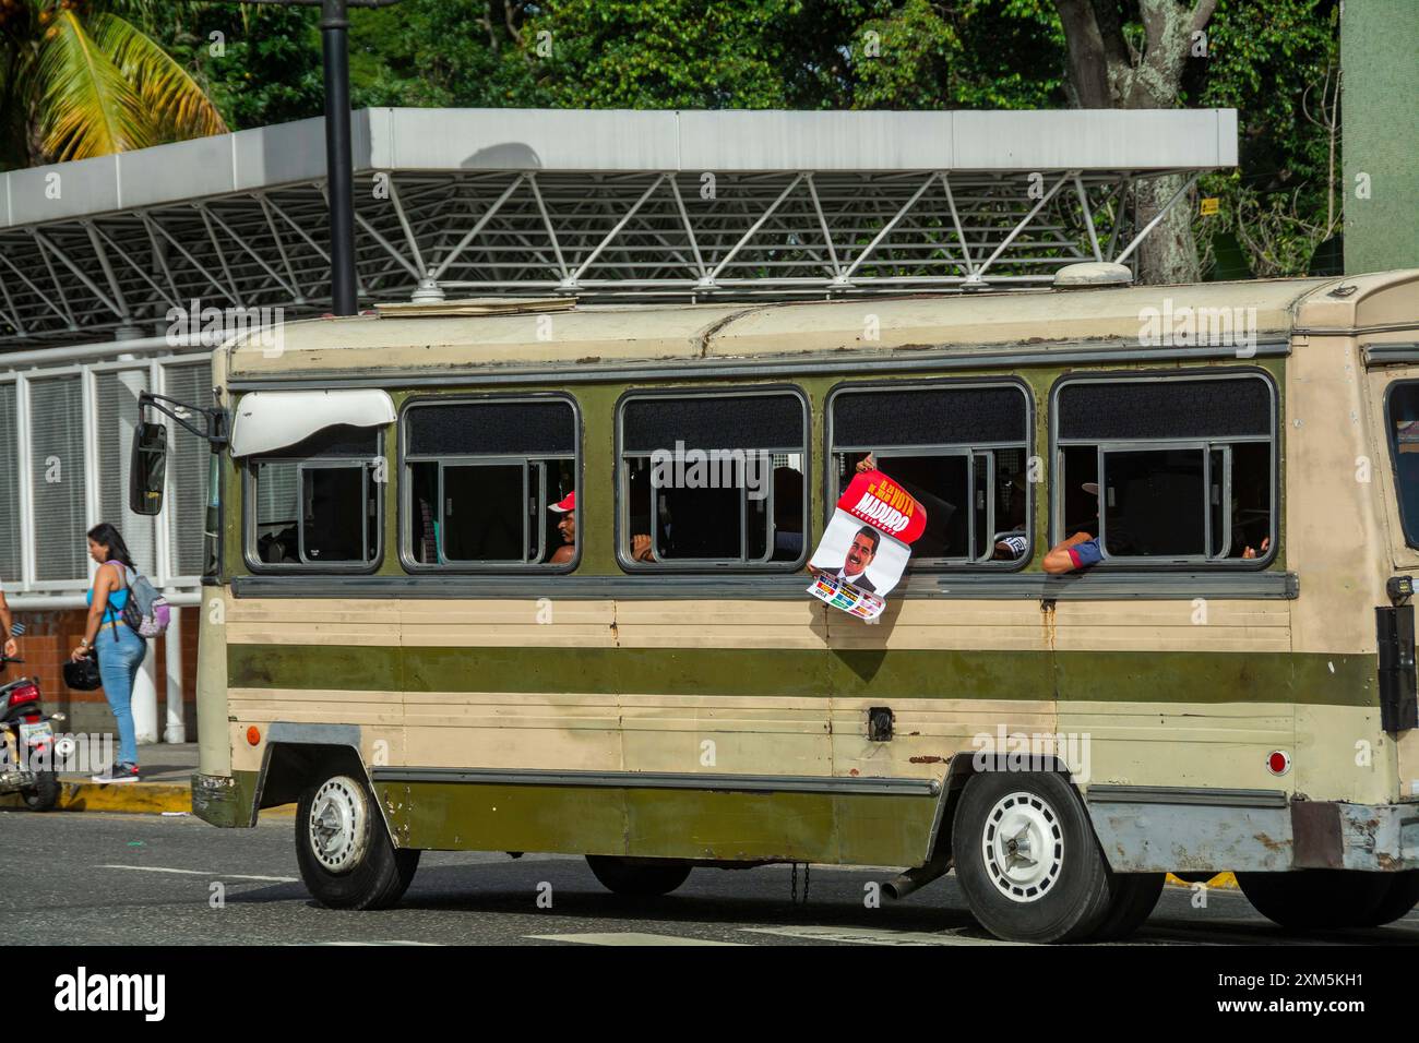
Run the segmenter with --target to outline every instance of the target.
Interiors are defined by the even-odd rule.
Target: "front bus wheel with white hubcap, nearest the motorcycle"
[[[389,839],[369,786],[338,769],[301,795],[295,856],[311,897],[332,910],[389,908],[419,868],[419,851]]]

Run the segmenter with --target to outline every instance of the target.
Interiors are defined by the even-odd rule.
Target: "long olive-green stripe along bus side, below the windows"
[[[1374,656],[231,644],[233,688],[1378,705]]]

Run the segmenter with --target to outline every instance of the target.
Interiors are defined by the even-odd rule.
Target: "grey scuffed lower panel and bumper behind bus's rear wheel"
[[[1293,800],[1266,790],[1091,786],[1115,873],[1419,868],[1419,806]]]

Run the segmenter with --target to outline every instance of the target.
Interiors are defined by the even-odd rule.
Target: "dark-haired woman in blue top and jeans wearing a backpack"
[[[133,728],[133,678],[148,654],[148,641],[123,623],[129,580],[135,575],[123,536],[108,522],[88,531],[89,558],[98,562],[88,592],[89,614],[84,641],[70,656],[84,658],[98,650],[98,673],[104,697],[118,719],[118,761],[94,776],[94,782],[138,782],[138,739]]]

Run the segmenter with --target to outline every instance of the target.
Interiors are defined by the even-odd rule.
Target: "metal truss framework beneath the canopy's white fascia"
[[[972,173],[362,172],[363,302],[565,294],[830,298],[1049,284],[1128,261],[1148,177],[1196,170]],[[0,233],[0,349],[152,335],[172,308],[329,304],[322,182]],[[1122,245],[1120,245],[1122,244]]]

